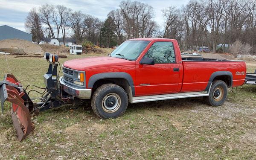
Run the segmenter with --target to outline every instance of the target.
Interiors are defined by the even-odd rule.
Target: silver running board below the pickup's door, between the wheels
[[[132,97],[132,103],[159,101],[159,100],[166,100],[166,99],[201,97],[201,96],[209,96],[208,90],[201,91],[201,92],[185,92],[185,93],[161,94],[161,95],[154,95],[154,96]]]

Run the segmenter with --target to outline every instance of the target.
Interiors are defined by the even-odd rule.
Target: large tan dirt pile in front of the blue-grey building
[[[0,41],[0,48],[13,48],[13,49],[23,49],[28,55],[31,54],[43,54],[43,49],[30,41],[20,40],[20,39],[5,39]]]

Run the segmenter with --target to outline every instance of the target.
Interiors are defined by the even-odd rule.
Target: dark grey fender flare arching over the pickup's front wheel
[[[107,73],[98,73],[90,77],[88,81],[88,87],[92,88],[94,83],[100,79],[113,79],[113,78],[122,78],[128,81],[128,84],[131,87],[132,95],[135,95],[134,81],[130,74],[125,72],[107,72]]]

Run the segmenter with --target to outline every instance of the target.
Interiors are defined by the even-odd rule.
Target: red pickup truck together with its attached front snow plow
[[[212,106],[227,98],[227,88],[243,85],[244,61],[198,57],[182,58],[176,40],[140,38],[125,41],[108,57],[74,59],[63,64],[58,78],[58,55],[45,53],[49,62],[45,88],[23,88],[14,75],[0,81],[0,106],[11,102],[12,121],[18,140],[32,131],[30,113],[90,99],[101,118],[122,115],[128,102],[203,96]],[[249,81],[249,79],[247,79]],[[40,102],[29,97],[28,87],[44,89]],[[37,91],[38,92],[38,91]],[[40,92],[38,92],[40,93]]]

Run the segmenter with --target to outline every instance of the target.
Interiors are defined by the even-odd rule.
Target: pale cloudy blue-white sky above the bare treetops
[[[167,6],[181,7],[189,0],[137,0],[148,3],[154,8],[154,20],[163,24],[161,10]],[[105,20],[113,9],[119,8],[121,0],[0,0],[0,26],[8,25],[25,31],[24,22],[30,9],[48,3],[53,5],[64,5],[73,11],[80,10],[85,14]]]

